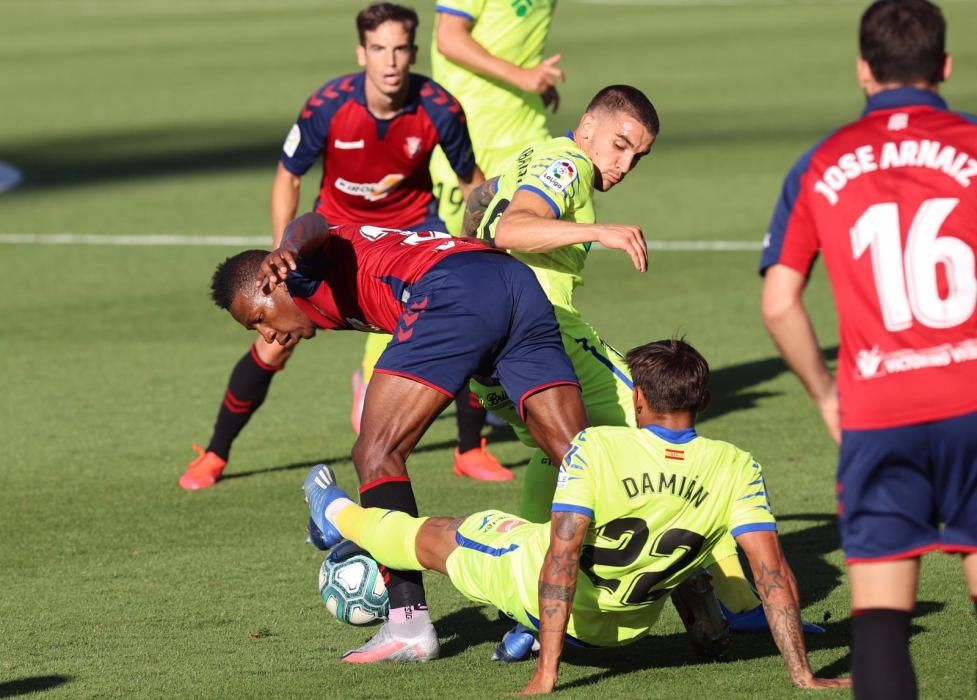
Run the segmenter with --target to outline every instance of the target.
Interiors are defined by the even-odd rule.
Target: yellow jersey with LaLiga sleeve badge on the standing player
[[[578,224],[596,220],[594,164],[574,143],[572,134],[530,146],[506,166],[499,176],[499,190],[478,228],[479,238],[495,238],[502,212],[518,190],[543,198],[557,219]],[[589,250],[589,243],[577,243],[546,253],[512,254],[533,269],[554,306],[574,311],[573,290],[582,282]]]

